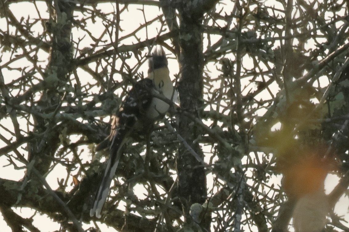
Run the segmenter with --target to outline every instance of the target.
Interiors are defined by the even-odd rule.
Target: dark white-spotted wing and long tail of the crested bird
[[[138,120],[145,117],[146,110],[153,99],[151,94],[152,88],[153,80],[142,79],[138,81],[129,91],[117,117],[113,118],[110,135],[106,138],[108,142],[102,142],[109,145],[110,157],[102,182],[99,185],[93,208],[90,210],[91,217],[94,215],[98,218],[101,217],[101,211],[108,197],[111,181],[123,153],[122,147]],[[96,150],[103,149],[103,146],[105,145],[97,146]]]

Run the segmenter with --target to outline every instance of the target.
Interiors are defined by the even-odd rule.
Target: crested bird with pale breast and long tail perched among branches
[[[96,151],[109,147],[110,157],[105,173],[99,185],[90,216],[101,217],[101,211],[110,189],[123,147],[132,131],[153,123],[163,117],[169,109],[169,104],[153,97],[152,90],[163,94],[166,98],[173,98],[173,85],[167,67],[168,62],[161,46],[155,48],[149,58],[148,78],[138,81],[129,91],[122,102],[119,113],[113,117],[111,132],[103,142],[97,145]]]

